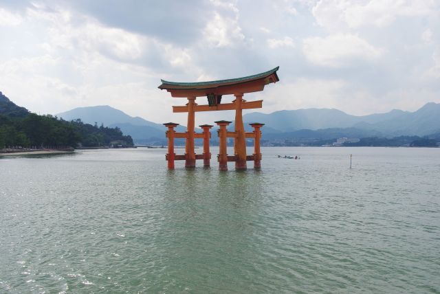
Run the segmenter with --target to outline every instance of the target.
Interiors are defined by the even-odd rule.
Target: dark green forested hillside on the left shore
[[[0,149],[65,148],[77,146],[133,146],[133,139],[119,128],[92,126],[81,120],[68,122],[52,115],[36,115],[17,106],[0,93]]]

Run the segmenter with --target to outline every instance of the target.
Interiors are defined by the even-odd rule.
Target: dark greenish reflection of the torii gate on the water
[[[248,267],[244,264],[256,254],[255,224],[264,193],[261,176],[252,170],[219,172],[215,168],[167,173],[164,201],[173,209],[166,210],[157,236],[168,269],[163,287],[175,280],[201,291],[209,284],[208,291],[230,289],[231,277],[243,282],[241,273],[252,270],[243,268]]]

